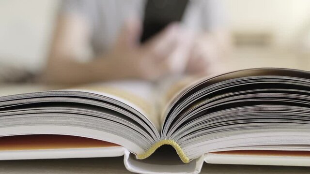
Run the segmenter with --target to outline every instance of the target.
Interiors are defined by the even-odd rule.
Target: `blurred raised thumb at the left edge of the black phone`
[[[141,21],[138,18],[129,18],[118,37],[117,44],[123,48],[133,48],[139,44],[141,35]]]

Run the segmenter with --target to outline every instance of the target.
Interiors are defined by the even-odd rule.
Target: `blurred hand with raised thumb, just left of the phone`
[[[171,24],[144,44],[140,44],[140,22],[126,23],[107,56],[119,77],[157,80],[171,73],[183,73],[186,62],[175,61],[180,44],[177,24]],[[183,64],[183,68],[178,64]],[[178,64],[177,64],[178,63]]]

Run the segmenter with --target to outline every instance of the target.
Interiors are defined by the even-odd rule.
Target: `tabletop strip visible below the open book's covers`
[[[310,167],[204,164],[202,174],[309,174]],[[0,174],[130,174],[123,157],[0,161]]]

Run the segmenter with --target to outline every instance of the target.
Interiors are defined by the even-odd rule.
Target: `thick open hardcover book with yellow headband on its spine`
[[[0,136],[0,160],[124,155],[140,173],[198,173],[203,161],[310,166],[310,72],[261,68],[3,96]],[[137,160],[161,145],[184,165]]]

